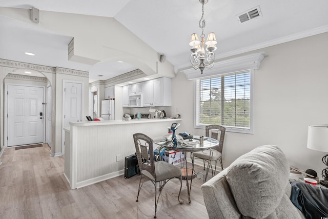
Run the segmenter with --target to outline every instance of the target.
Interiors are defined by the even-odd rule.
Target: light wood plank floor
[[[43,147],[5,148],[0,165],[0,218],[153,218],[154,186],[145,182],[136,202],[139,175],[118,176],[71,190],[64,172],[64,156],[52,157]],[[202,168],[197,167],[197,171]],[[208,218],[200,190],[202,180],[192,183],[188,203],[185,181],[180,205],[179,181],[163,189],[157,218]]]

